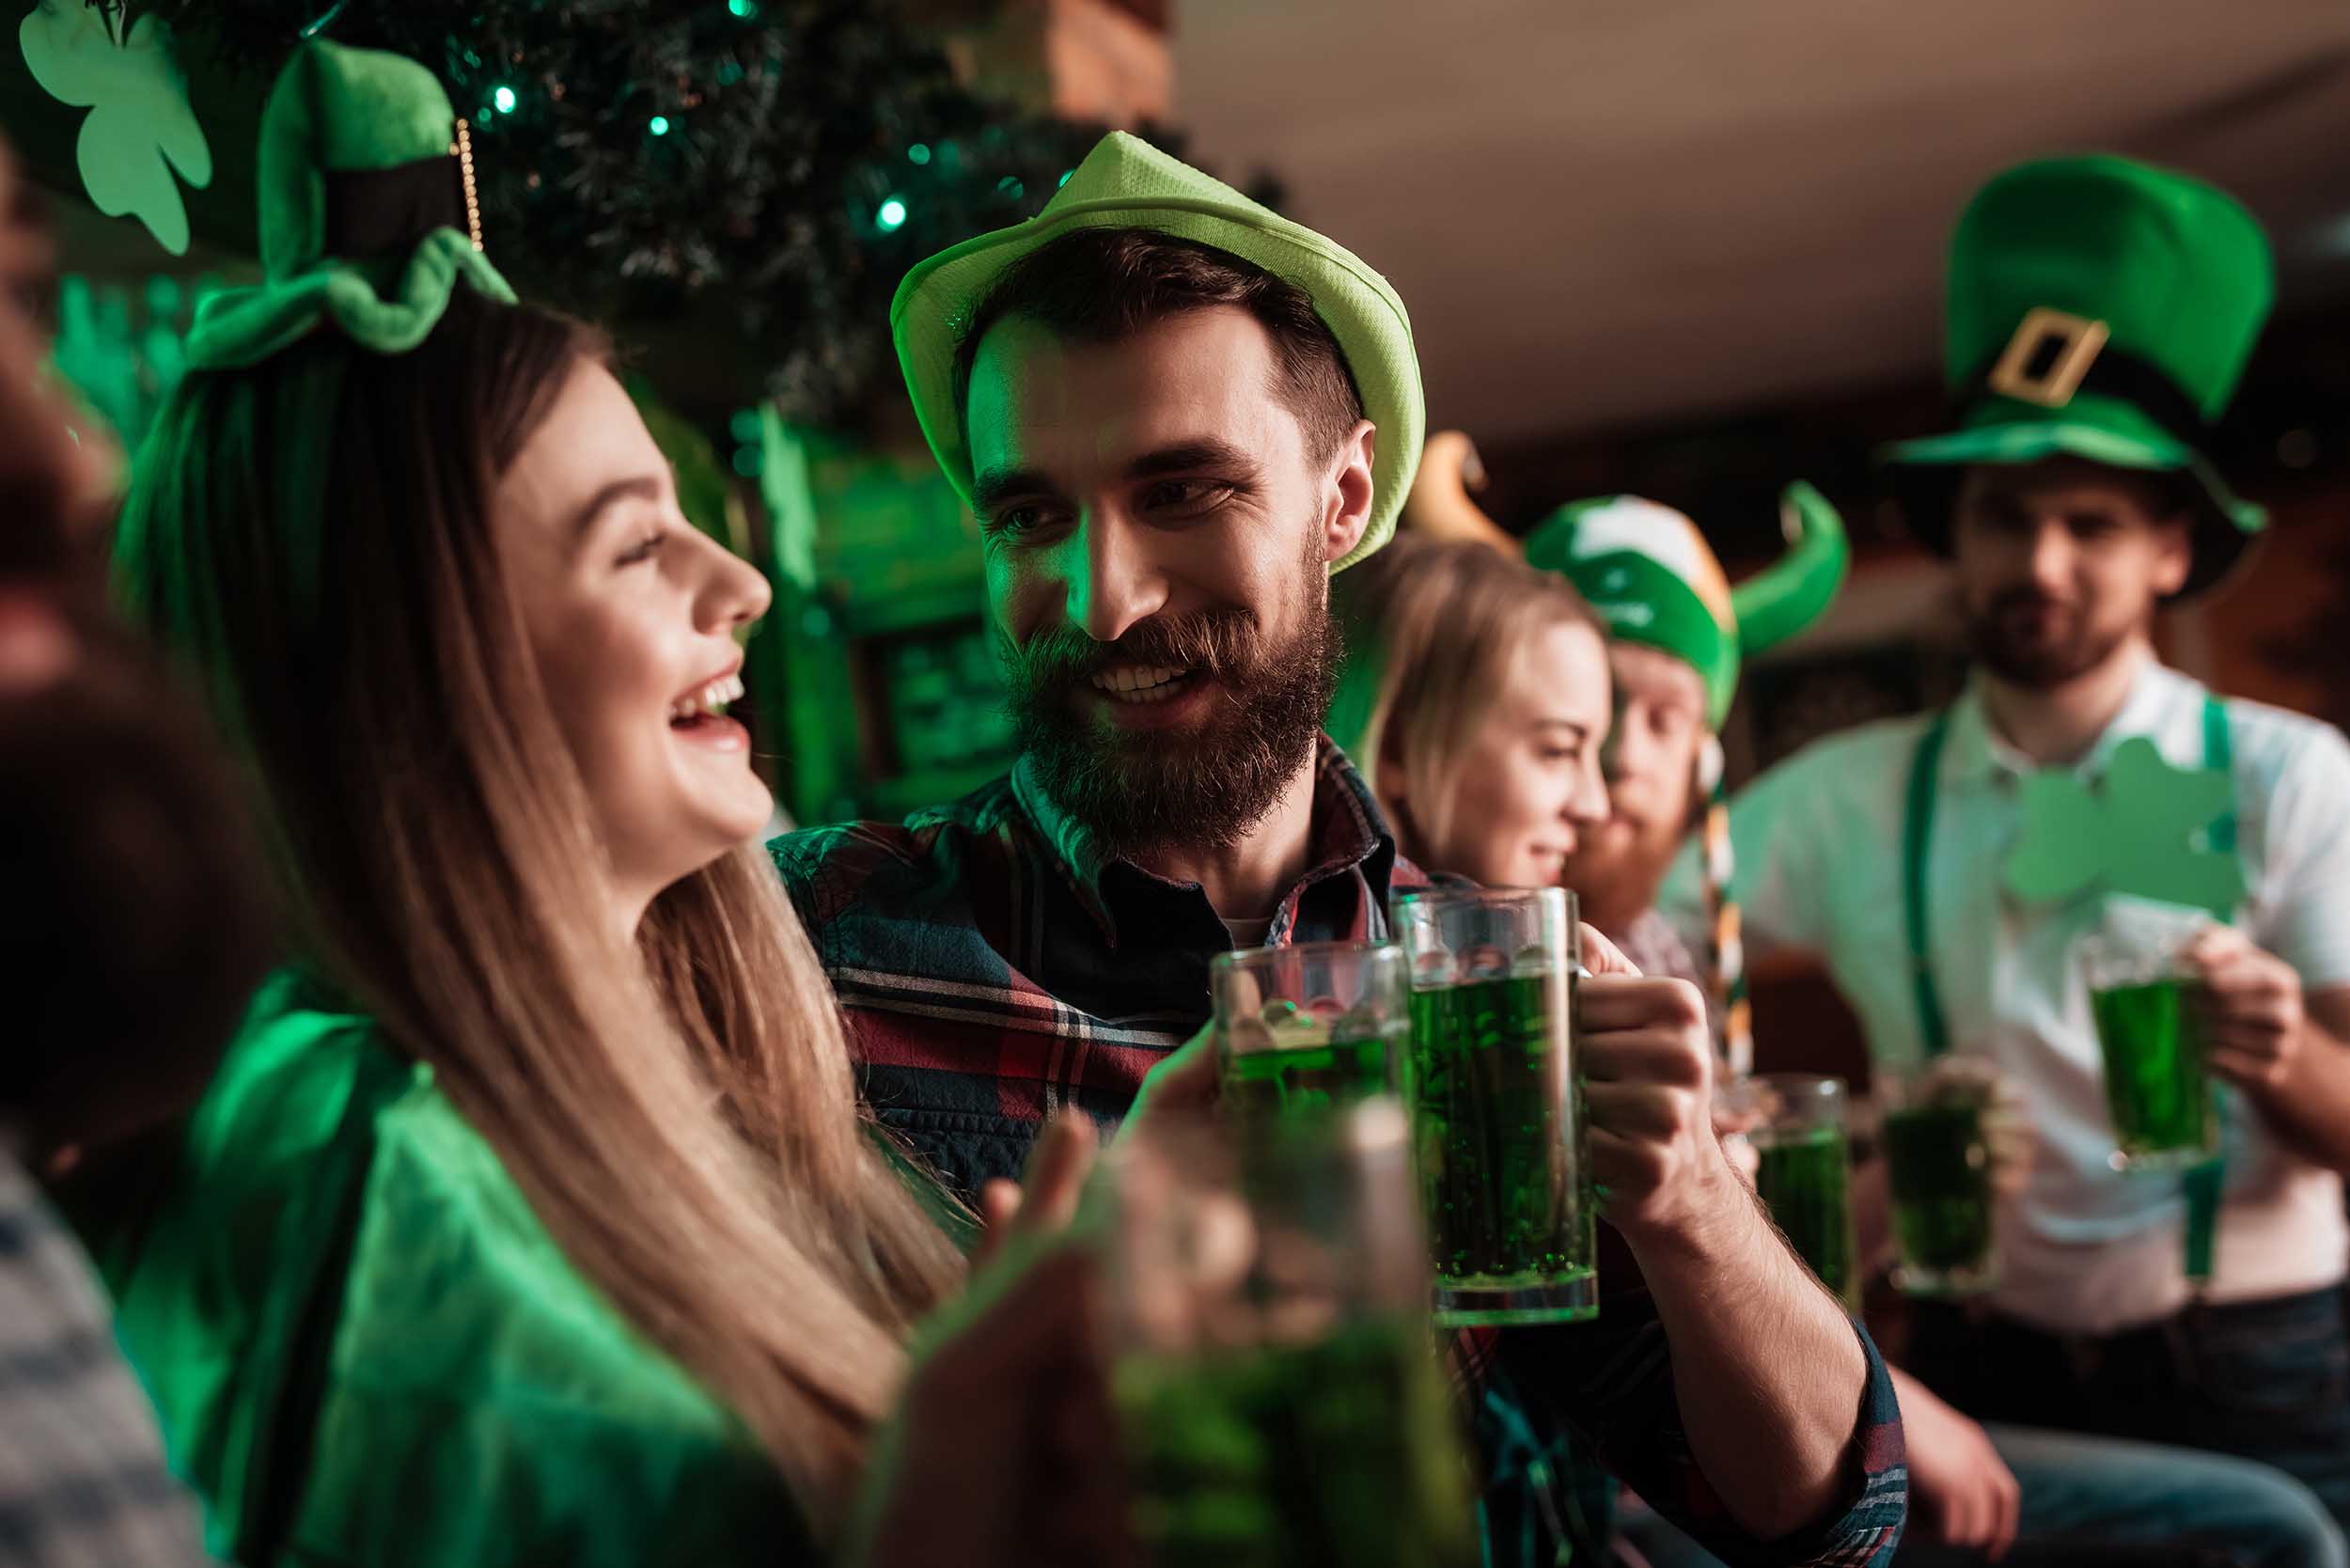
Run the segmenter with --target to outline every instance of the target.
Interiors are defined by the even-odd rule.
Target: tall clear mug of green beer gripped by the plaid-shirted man
[[[1598,1316],[1574,933],[1574,896],[1563,889],[1396,900],[1438,1324]]]

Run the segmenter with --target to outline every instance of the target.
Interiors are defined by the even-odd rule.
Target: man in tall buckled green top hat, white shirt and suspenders
[[[2272,1462],[2345,1516],[2350,745],[2153,649],[2263,524],[2209,421],[2270,299],[2258,223],[2211,186],[2120,158],[1993,179],[1950,254],[1958,428],[1885,454],[1974,677],[1730,816],[1748,940],[1826,954],[1880,1074],[1976,1058],[2030,1107],[2000,1279],[1920,1305],[1911,1368],[1981,1420]],[[2186,978],[2218,1084],[2211,1110],[2181,1079],[2186,1178],[2117,1147],[2138,1058],[2117,1037],[2106,1067],[2092,938]]]

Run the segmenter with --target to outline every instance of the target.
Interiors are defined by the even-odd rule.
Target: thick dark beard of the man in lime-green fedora
[[[1006,708],[1043,792],[1128,858],[1170,844],[1229,849],[1248,837],[1311,757],[1340,668],[1328,590],[1311,588],[1297,635],[1278,646],[1250,611],[1213,609],[1154,616],[1116,642],[1055,625],[1001,651]],[[1191,670],[1189,682],[1215,686],[1206,722],[1112,729],[1088,712],[1090,677],[1112,665]]]

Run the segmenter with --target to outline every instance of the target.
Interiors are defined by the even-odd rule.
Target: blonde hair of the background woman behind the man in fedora
[[[1558,623],[1598,616],[1574,588],[1485,541],[1403,531],[1330,585],[1347,637],[1335,733],[1386,811],[1403,851],[1426,858],[1452,832],[1455,783],[1513,661]]]

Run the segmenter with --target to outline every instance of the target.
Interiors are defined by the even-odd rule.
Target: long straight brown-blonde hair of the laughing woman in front
[[[414,353],[190,374],[118,576],[249,764],[301,957],[498,1150],[571,1262],[827,1530],[961,1260],[870,1135],[832,992],[743,846],[616,952],[489,496],[602,339],[465,292]]]

